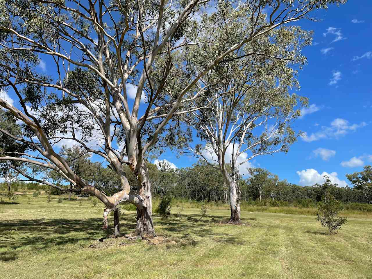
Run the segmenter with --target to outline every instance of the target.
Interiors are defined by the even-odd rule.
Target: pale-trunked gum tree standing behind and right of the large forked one
[[[229,17],[226,10],[233,7],[226,4],[218,10],[222,21],[233,21],[234,13],[227,13]],[[224,34],[217,33],[221,37],[218,40],[234,42],[240,36],[236,30],[244,30],[240,22],[236,24]],[[298,26],[282,26],[236,51],[240,59],[227,57],[219,61],[201,78],[204,84],[212,84],[210,96],[194,101],[195,108],[205,108],[184,117],[198,131],[199,138],[207,142],[205,147],[188,146],[189,150],[221,170],[229,186],[230,223],[240,222],[239,167],[259,155],[288,152],[300,135],[291,126],[307,99],[289,91],[299,88],[295,67],[301,68],[306,62],[301,50],[311,44],[311,35]],[[221,48],[209,45],[205,55],[198,58],[210,59],[209,55]],[[197,64],[202,65],[202,61]]]

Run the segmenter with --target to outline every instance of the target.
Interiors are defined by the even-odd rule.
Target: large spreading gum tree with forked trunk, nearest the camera
[[[3,0],[0,87],[17,100],[13,106],[0,98],[0,106],[22,124],[20,133],[0,132],[24,152],[0,159],[57,171],[72,189],[9,164],[29,180],[96,196],[106,205],[106,221],[116,205],[130,202],[137,207],[135,234],[154,235],[144,158],[152,148],[185,144],[178,117],[198,109],[190,102],[210,98],[207,89],[215,84],[201,78],[221,61],[240,59],[241,49],[251,49],[274,29],[343,2],[228,1],[225,9],[225,3],[208,0]],[[232,28],[237,35],[225,40]],[[47,73],[38,67],[41,59]],[[107,161],[119,177],[119,191],[106,195],[78,176],[58,154],[63,140]],[[135,190],[124,166],[138,178]]]

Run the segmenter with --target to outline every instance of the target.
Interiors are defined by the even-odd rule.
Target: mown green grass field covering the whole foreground
[[[350,218],[329,236],[314,216],[243,211],[243,225],[227,225],[228,210],[200,219],[199,209],[178,217],[174,206],[167,220],[154,216],[160,237],[129,240],[106,238],[112,230],[101,230],[100,203],[57,199],[47,203],[43,194],[0,204],[1,279],[372,279],[369,218]],[[134,225],[135,212],[125,211],[122,234]]]

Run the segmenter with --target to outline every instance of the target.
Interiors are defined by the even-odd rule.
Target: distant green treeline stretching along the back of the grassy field
[[[92,163],[89,158],[79,159],[74,168],[79,175],[91,185],[112,195],[120,188],[118,176],[108,167],[99,163]],[[154,197],[171,197],[187,199],[189,201],[206,201],[228,203],[229,191],[221,172],[199,161],[192,167],[172,169],[168,163],[160,162],[158,165],[148,164],[152,191]],[[322,200],[324,185],[298,186],[279,180],[278,176],[265,169],[250,169],[251,176],[237,181],[238,193],[241,202],[273,206],[299,204],[308,206],[312,202]],[[126,171],[133,190],[137,189],[137,179],[132,172]],[[55,174],[50,173],[53,180],[58,181]],[[0,183],[0,189],[6,190],[8,185]],[[49,190],[49,186],[38,183],[13,182],[12,191],[18,190]],[[68,188],[69,186],[64,186]],[[368,203],[363,190],[351,187],[336,187],[328,183],[328,191],[343,203]],[[52,195],[61,195],[62,192],[52,188]]]

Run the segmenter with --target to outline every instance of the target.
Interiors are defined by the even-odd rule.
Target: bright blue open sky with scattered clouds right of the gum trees
[[[295,130],[306,132],[306,137],[288,154],[256,157],[243,167],[263,167],[302,186],[321,183],[327,174],[345,186],[346,173],[372,164],[371,9],[372,1],[349,1],[315,12],[319,22],[298,22],[314,31],[312,46],[303,51],[308,65],[299,71],[297,92],[310,99],[310,107],[295,122]],[[52,73],[48,59],[42,57],[38,66],[44,73]],[[8,95],[16,99],[12,92]],[[178,168],[197,161],[191,156],[177,158],[171,151],[159,158],[164,159]]]

